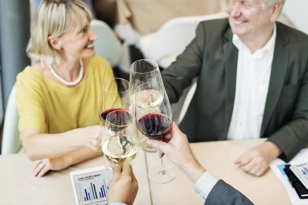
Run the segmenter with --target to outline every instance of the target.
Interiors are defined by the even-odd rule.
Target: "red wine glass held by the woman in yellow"
[[[99,105],[99,116],[102,124],[105,125],[108,114],[113,111],[119,111],[125,114],[130,113],[129,111],[131,110],[131,114],[134,116],[134,109],[131,108],[128,81],[122,78],[105,80],[102,85]],[[123,117],[125,116],[124,114]],[[119,129],[121,129],[121,127],[119,127]],[[105,160],[105,167],[111,170],[107,160]]]

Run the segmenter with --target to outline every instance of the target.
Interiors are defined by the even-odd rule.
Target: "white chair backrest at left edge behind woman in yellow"
[[[2,155],[17,153],[21,148],[20,132],[18,130],[19,114],[16,103],[16,88],[12,88],[4,117]]]

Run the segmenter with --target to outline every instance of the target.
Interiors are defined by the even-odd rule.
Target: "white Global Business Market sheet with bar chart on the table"
[[[77,205],[106,205],[108,182],[112,172],[105,167],[72,171],[69,173]]]

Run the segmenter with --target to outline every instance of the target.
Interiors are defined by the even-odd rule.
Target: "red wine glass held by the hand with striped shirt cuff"
[[[160,83],[145,83],[136,89],[137,128],[146,137],[163,140],[171,130],[173,115],[164,86]],[[155,183],[168,183],[177,176],[173,166],[161,165],[153,167],[148,177]]]

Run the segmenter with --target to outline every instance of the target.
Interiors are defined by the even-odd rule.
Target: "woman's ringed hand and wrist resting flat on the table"
[[[69,167],[69,163],[65,159],[65,156],[50,158],[50,159],[42,159],[36,160],[35,166],[32,170],[33,176],[42,177],[49,170],[63,170]]]

